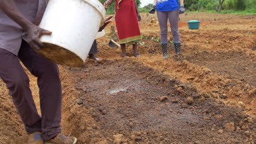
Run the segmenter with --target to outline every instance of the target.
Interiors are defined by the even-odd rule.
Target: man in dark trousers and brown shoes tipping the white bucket
[[[0,0],[0,78],[25,125],[29,144],[74,144],[75,137],[61,134],[62,92],[57,64],[33,50],[43,49],[39,38],[51,34],[38,27],[46,4],[46,0]],[[106,19],[100,31],[111,18]],[[38,78],[42,116],[38,115],[29,78],[20,61]]]

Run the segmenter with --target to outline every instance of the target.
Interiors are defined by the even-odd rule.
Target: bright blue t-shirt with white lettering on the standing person
[[[178,0],[158,0],[157,11],[173,11],[179,9]]]

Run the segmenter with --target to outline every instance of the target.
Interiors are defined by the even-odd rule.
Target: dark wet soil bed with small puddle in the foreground
[[[78,104],[90,111],[109,143],[245,143],[249,137],[240,127],[254,130],[242,109],[130,58],[88,62],[71,72]]]

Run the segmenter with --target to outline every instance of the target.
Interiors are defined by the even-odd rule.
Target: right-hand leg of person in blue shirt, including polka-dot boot
[[[171,25],[175,52],[179,54],[181,53],[181,41],[179,36],[179,10],[168,12],[168,19]]]

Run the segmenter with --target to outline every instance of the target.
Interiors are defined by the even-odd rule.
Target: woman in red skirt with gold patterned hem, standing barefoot
[[[114,0],[108,0],[104,7],[112,4]],[[126,44],[133,46],[133,55],[140,57],[137,41],[141,40],[138,21],[141,15],[138,13],[136,0],[116,0],[115,2],[115,23],[117,25],[119,43],[123,52],[122,57],[126,57]]]

